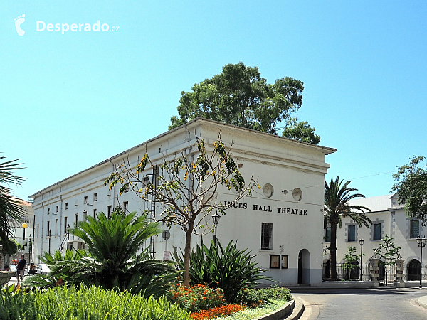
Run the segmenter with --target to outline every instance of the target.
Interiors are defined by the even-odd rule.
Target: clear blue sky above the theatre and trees
[[[0,151],[28,178],[15,196],[167,131],[182,90],[239,61],[304,82],[297,115],[338,150],[327,181],[384,195],[427,154],[426,1],[122,2],[1,1]],[[109,30],[36,27],[98,20]]]

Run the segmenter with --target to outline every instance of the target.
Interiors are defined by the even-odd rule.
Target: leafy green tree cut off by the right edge
[[[409,164],[400,166],[393,174],[396,181],[392,192],[397,192],[399,203],[405,205],[408,215],[418,218],[427,225],[427,163],[423,168],[425,156],[414,156]]]

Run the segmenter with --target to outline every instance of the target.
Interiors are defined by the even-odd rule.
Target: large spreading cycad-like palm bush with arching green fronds
[[[88,255],[48,261],[50,274],[28,278],[24,286],[41,287],[37,282],[52,284],[62,279],[65,284],[96,284],[105,289],[158,297],[177,281],[178,273],[172,263],[152,259],[148,247],[137,253],[145,240],[162,232],[159,223],[149,222],[147,215],[136,217],[136,212],[125,215],[120,209],[110,218],[100,212],[96,218],[87,219],[70,233],[86,243]]]

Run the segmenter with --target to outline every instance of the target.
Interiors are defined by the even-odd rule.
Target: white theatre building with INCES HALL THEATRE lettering
[[[100,211],[108,215],[119,203],[128,211],[151,210],[159,216],[160,208],[152,208],[132,191],[118,196],[119,184],[109,190],[105,179],[124,159],[135,168],[146,148],[156,165],[164,157],[173,160],[181,154],[196,159],[196,137],[204,139],[209,152],[219,132],[226,146],[232,144],[243,177],[249,180],[253,176],[261,189],[226,210],[218,223],[218,240],[224,246],[238,240],[238,247],[251,250],[258,266],[282,284],[322,282],[322,208],[325,174],[330,167],[325,155],[337,150],[207,119],[195,119],[34,193],[35,255],[64,250],[67,242],[69,247],[84,248],[79,238],[70,236],[67,241],[67,226]],[[155,178],[156,172],[149,168],[144,174]],[[235,197],[225,187],[218,191],[219,201]],[[211,218],[206,224],[213,225]],[[163,259],[168,250],[184,251],[184,232],[176,227],[169,231],[169,240],[159,235],[147,241],[157,259]],[[194,235],[192,245],[209,243],[211,238],[211,233]]]

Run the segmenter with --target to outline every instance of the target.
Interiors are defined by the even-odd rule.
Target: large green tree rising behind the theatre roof
[[[179,115],[171,118],[169,129],[203,117],[277,134],[295,122],[295,112],[302,105],[302,90],[304,84],[300,80],[285,77],[268,84],[258,67],[228,64],[222,73],[193,85],[191,92],[181,92]]]

